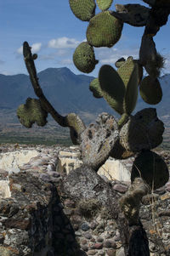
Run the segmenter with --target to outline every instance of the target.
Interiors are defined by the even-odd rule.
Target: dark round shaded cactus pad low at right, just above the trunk
[[[140,152],[133,162],[131,180],[141,177],[150,185],[150,190],[165,185],[169,179],[166,162],[153,151]]]

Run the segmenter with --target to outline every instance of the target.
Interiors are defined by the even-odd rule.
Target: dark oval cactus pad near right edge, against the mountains
[[[139,86],[139,93],[146,103],[156,105],[162,98],[161,84],[157,78],[144,77]]]

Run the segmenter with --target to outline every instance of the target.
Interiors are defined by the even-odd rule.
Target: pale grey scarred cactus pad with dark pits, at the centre
[[[114,117],[107,113],[100,114],[96,123],[90,124],[81,134],[82,162],[97,171],[110,155],[118,135]]]

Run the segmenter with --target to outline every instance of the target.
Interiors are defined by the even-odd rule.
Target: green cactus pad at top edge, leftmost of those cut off
[[[71,10],[75,16],[83,21],[88,21],[95,14],[94,0],[69,0]]]

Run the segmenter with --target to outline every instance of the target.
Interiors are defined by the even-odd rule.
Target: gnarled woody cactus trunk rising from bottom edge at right
[[[142,197],[150,192],[150,187],[143,179],[136,178],[127,193],[119,200],[120,207],[129,224],[127,237],[127,256],[150,256],[149,242],[139,219],[139,208]]]

